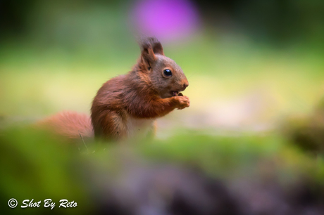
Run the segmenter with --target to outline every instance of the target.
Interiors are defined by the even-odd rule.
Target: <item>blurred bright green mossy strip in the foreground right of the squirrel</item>
[[[229,181],[242,176],[251,179],[272,175],[282,183],[294,183],[294,179],[298,180],[294,176],[299,175],[322,183],[323,161],[316,163],[289,147],[280,136],[221,137],[188,133],[156,142],[144,146],[151,159],[185,162]],[[270,175],[262,176],[267,171]]]

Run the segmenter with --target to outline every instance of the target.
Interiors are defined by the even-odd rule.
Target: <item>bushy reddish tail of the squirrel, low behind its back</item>
[[[37,123],[43,129],[50,129],[60,136],[71,139],[92,138],[94,131],[88,115],[78,112],[60,112]]]

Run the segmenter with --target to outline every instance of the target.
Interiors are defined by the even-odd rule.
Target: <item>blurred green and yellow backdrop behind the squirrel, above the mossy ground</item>
[[[130,71],[139,57],[137,37],[150,33],[139,32],[141,23],[133,21],[141,2],[150,1],[1,1],[0,115],[89,113],[101,84]],[[323,96],[322,1],[190,6],[194,27],[188,34],[155,35],[190,83],[191,107],[169,119],[186,122],[180,126],[253,130],[311,112]],[[163,15],[172,15],[168,11]],[[173,22],[155,26],[172,36]]]

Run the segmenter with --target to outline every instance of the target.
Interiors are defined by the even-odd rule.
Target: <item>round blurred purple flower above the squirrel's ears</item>
[[[187,0],[142,0],[133,10],[132,22],[141,34],[180,39],[197,29],[197,10]]]

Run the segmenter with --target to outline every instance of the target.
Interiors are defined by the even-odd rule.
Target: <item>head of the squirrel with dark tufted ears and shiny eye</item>
[[[142,39],[139,65],[142,74],[149,79],[161,98],[177,96],[189,82],[181,67],[164,56],[161,43],[155,37]]]

